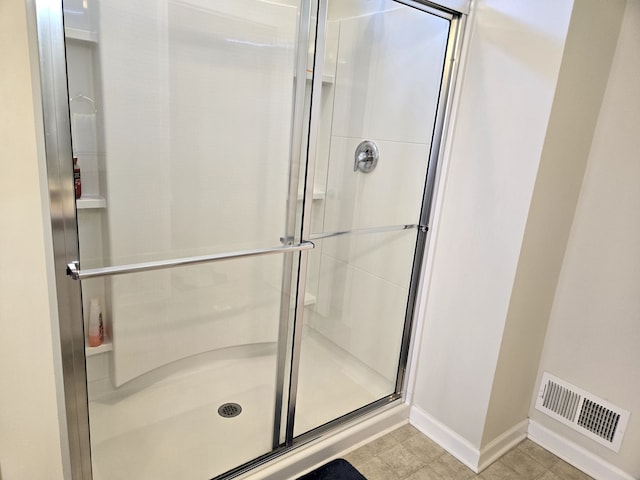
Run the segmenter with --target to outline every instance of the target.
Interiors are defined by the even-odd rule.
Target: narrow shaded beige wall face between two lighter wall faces
[[[624,0],[575,2],[518,260],[483,445],[526,419]]]

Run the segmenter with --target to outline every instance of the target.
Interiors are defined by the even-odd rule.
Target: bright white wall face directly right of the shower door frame
[[[486,0],[470,19],[412,411],[457,439],[468,464],[482,446],[572,5]]]

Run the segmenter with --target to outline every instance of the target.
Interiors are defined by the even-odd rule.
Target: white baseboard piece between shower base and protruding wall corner
[[[479,473],[480,450],[468,440],[443,425],[415,405],[409,412],[409,423],[436,442],[447,452],[464,463],[475,473]]]

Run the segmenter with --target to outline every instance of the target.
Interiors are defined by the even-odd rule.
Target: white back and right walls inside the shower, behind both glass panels
[[[296,9],[244,3],[101,4],[108,226],[102,248],[87,242],[107,252],[100,261],[278,245]],[[419,221],[448,24],[392,2],[381,10],[329,22],[315,232]],[[353,172],[364,139],[380,149],[370,174]],[[415,238],[339,237],[310,257],[311,326],[389,379]],[[275,341],[281,266],[274,257],[108,281],[116,384],[197,352]]]

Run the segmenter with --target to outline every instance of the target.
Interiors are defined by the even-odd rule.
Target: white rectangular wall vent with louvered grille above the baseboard
[[[544,372],[536,409],[610,448],[620,450],[629,412]]]

